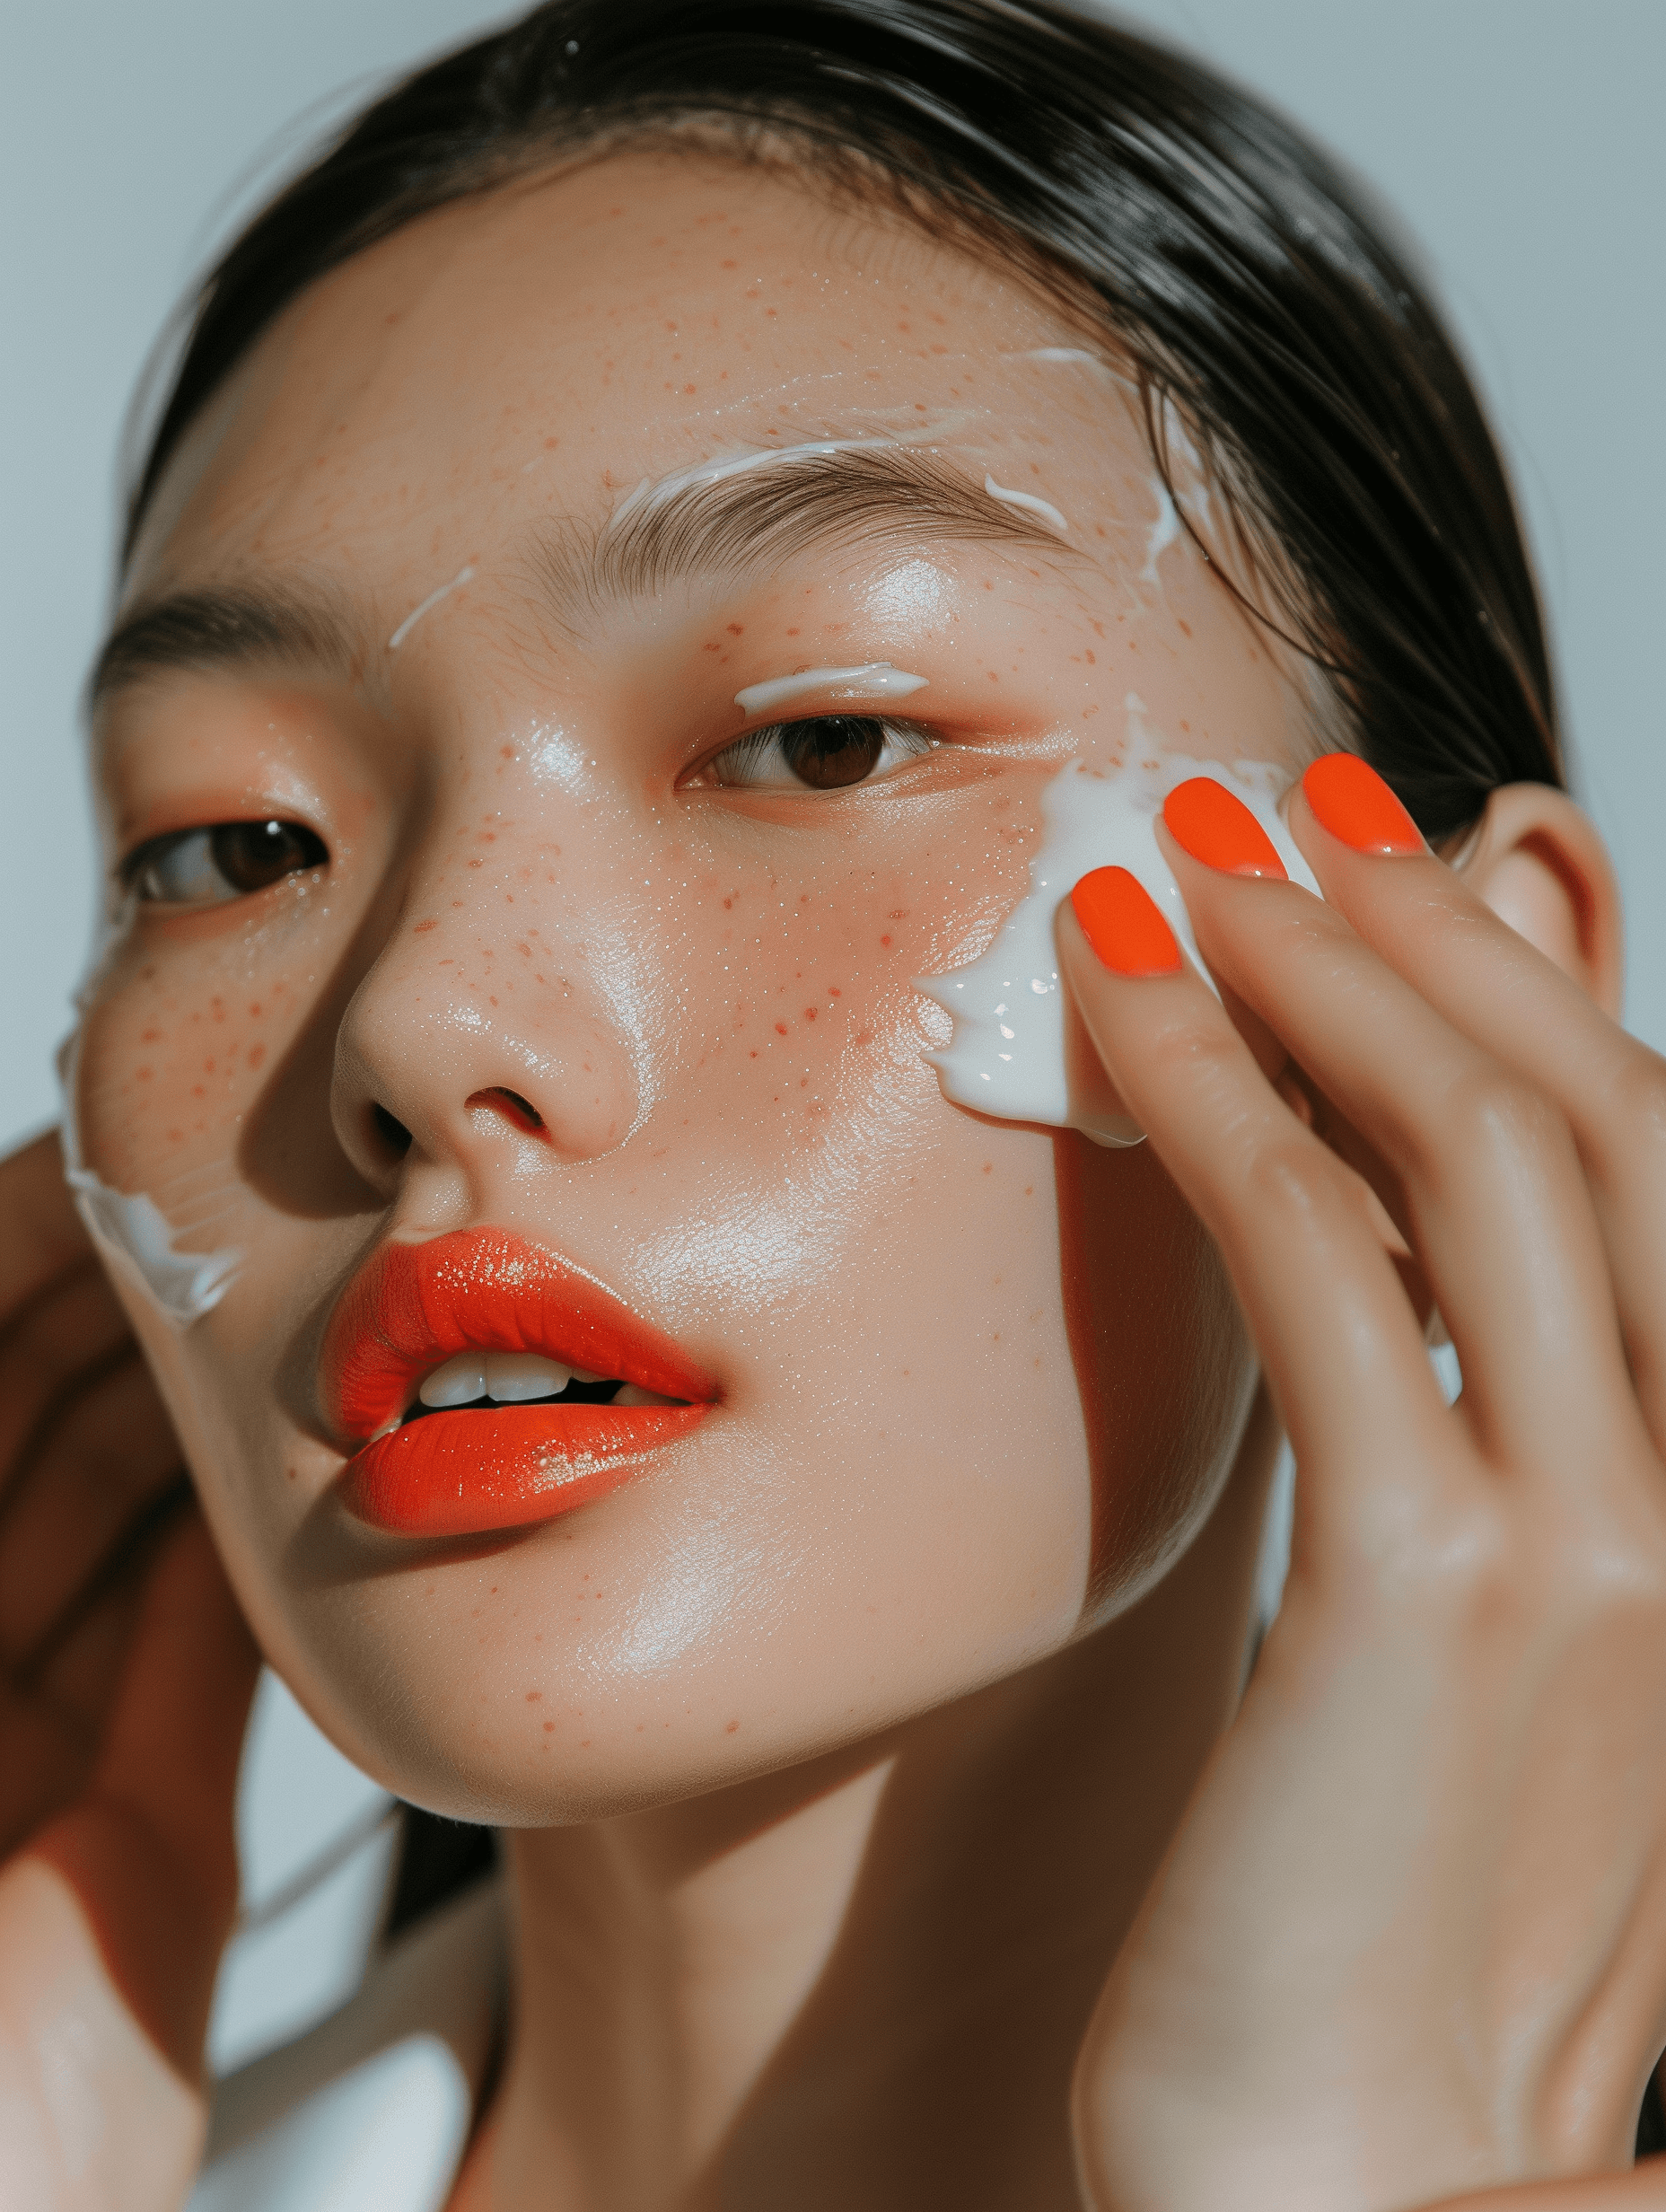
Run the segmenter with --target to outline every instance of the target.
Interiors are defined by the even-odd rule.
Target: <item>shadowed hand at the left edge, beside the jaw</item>
[[[175,2208],[257,1652],[55,1137],[0,1164],[0,2212]]]

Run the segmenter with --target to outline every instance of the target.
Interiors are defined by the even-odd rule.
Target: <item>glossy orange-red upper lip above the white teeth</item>
[[[538,1352],[664,1398],[710,1400],[712,1378],[604,1283],[513,1230],[383,1245],[347,1283],[323,1336],[334,1427],[363,1442],[398,1420],[454,1352]]]

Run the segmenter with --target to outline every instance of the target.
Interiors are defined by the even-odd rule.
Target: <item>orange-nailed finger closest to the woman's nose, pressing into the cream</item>
[[[1124,872],[1086,883],[1102,876]],[[1445,1400],[1358,1179],[1274,1095],[1177,947],[1168,973],[1128,973],[1128,931],[1091,918],[1093,947],[1073,902],[1060,907],[1062,973],[1117,1091],[1221,1250],[1297,1460],[1336,1471],[1343,1513],[1383,1444],[1434,1469],[1449,1440]]]

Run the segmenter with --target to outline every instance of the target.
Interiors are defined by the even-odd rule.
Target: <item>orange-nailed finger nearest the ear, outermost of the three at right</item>
[[[1332,796],[1321,821],[1301,790],[1292,834],[1325,898],[1378,958],[1562,1110],[1608,1252],[1637,1396],[1666,1451],[1666,1062],[1436,860],[1403,810],[1396,836],[1398,801],[1363,761],[1350,774],[1365,779],[1363,805]],[[1323,779],[1308,776],[1325,803]]]

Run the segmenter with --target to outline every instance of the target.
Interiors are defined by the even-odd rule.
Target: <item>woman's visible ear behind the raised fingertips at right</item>
[[[1620,1020],[1620,885],[1595,823],[1549,783],[1507,783],[1454,867],[1500,920]]]

